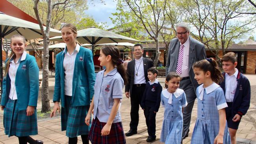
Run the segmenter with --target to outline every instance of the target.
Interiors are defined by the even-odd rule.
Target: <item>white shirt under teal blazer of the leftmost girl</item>
[[[18,70],[19,65],[20,65],[20,61],[25,60],[26,56],[27,56],[27,52],[24,51],[22,56],[20,57],[19,61],[17,61],[16,63],[14,62],[14,59],[13,60],[10,59],[11,62],[10,62],[8,74],[9,74],[9,77],[11,79],[11,89],[10,89],[10,93],[9,93],[9,98],[11,100],[17,100],[18,99],[17,92],[16,92],[16,87],[15,87],[15,78],[16,78],[17,70]]]

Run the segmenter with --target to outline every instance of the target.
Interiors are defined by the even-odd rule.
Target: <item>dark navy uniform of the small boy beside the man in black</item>
[[[161,102],[162,86],[156,79],[153,83],[148,81],[141,100],[141,108],[144,109],[146,124],[148,127],[148,136],[156,138],[156,113]]]

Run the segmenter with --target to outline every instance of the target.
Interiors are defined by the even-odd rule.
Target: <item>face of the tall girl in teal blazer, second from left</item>
[[[61,29],[61,36],[62,36],[63,41],[67,45],[76,43],[77,34],[74,33],[69,27],[63,27]]]

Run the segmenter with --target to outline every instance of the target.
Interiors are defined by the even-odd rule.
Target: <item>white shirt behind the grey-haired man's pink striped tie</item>
[[[181,45],[181,43],[180,43]],[[184,42],[183,47],[183,59],[182,59],[182,73],[180,74],[181,77],[187,77],[189,76],[189,37],[187,38],[187,41]]]

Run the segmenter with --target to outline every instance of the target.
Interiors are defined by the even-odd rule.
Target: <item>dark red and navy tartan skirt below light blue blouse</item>
[[[105,125],[106,123],[100,122],[97,117],[93,120],[88,135],[92,144],[126,144],[122,122],[113,123],[109,135],[101,136],[101,130]]]

